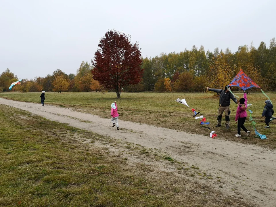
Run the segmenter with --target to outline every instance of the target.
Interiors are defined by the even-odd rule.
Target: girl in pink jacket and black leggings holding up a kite
[[[250,131],[248,131],[244,126],[244,122],[247,117],[246,108],[247,108],[247,96],[244,91],[244,97],[239,99],[239,106],[237,108],[237,114],[235,117],[235,121],[236,122],[238,121],[238,133],[235,135],[236,137],[241,137],[241,129],[243,129],[246,132],[247,136],[250,135]]]

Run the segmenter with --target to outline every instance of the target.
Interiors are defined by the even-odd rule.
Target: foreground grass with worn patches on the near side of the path
[[[0,206],[252,206],[87,144],[106,139],[0,105]]]

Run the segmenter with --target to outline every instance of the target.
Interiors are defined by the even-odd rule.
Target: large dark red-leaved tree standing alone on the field
[[[138,84],[143,76],[141,51],[137,42],[130,42],[130,36],[116,30],[108,30],[99,40],[91,70],[95,80],[106,88],[116,89],[120,98],[121,89]]]

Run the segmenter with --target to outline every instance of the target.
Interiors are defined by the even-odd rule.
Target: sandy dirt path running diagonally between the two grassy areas
[[[76,112],[68,108],[24,103],[0,98],[0,104],[13,106],[49,120],[161,150],[178,161],[200,167],[223,180],[219,190],[241,196],[260,206],[276,206],[276,152],[207,136],[179,132],[119,120],[121,130],[111,128],[110,119]],[[85,120],[87,122],[83,122]],[[251,136],[251,139],[256,139]]]

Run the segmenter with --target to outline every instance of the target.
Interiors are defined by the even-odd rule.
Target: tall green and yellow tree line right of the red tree
[[[145,58],[143,81],[130,90],[138,91],[205,91],[206,87],[222,89],[242,69],[264,90],[276,90],[276,42],[271,39],[269,47],[261,42],[240,46],[232,53],[230,49],[213,52],[193,46],[180,53],[169,53]]]

